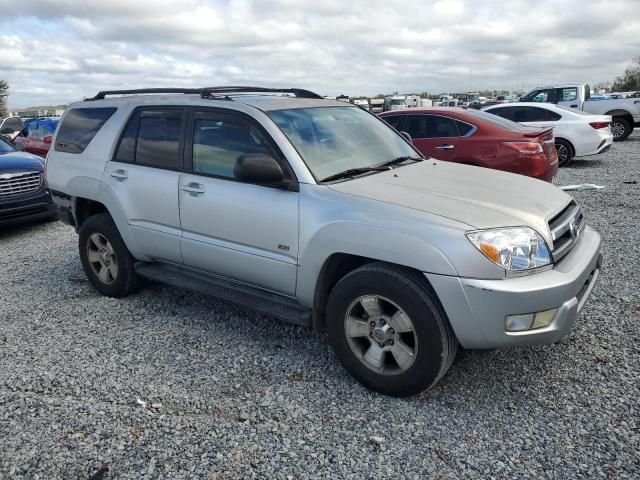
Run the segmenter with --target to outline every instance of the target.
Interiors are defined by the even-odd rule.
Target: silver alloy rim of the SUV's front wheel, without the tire
[[[399,375],[413,366],[418,353],[413,321],[388,298],[363,295],[354,300],[344,329],[349,348],[370,370]]]

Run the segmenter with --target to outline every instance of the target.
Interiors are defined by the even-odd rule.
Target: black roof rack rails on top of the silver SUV
[[[183,93],[185,95],[200,95],[201,98],[228,98],[233,93],[289,93],[300,98],[320,98],[317,93],[302,88],[265,88],[265,87],[205,87],[205,88],[139,88],[133,90],[104,90],[95,97],[85,99],[86,102],[104,100],[111,95],[143,95],[146,93]]]

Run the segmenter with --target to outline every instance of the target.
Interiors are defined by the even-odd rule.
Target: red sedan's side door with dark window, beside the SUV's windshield
[[[455,120],[443,115],[409,115],[404,130],[413,145],[424,155],[454,161],[460,150],[460,135]]]

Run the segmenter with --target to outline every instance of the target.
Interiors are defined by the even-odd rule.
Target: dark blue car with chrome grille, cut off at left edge
[[[0,138],[0,225],[54,217],[42,159]]]

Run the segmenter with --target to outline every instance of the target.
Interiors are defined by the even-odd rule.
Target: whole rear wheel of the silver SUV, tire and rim
[[[93,215],[84,221],[79,249],[82,267],[102,295],[124,297],[135,288],[135,260],[108,214]]]

